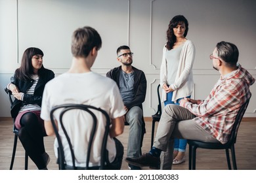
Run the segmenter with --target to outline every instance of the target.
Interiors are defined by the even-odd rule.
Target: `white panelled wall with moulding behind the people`
[[[169,20],[177,14],[188,19],[187,38],[196,45],[195,99],[204,99],[219,78],[209,59],[219,41],[236,44],[240,64],[256,78],[255,9],[254,0],[0,0],[0,116],[10,116],[3,88],[20,66],[24,50],[41,48],[45,67],[60,75],[70,67],[72,32],[84,25],[94,27],[102,37],[93,66],[96,73],[106,75],[119,66],[116,49],[121,44],[134,52],[133,65],[144,71],[148,81],[144,116],[156,110],[161,52]],[[256,117],[256,84],[251,92],[245,116]]]

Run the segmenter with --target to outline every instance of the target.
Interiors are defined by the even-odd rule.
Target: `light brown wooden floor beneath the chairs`
[[[156,123],[158,124],[158,123]],[[146,120],[146,135],[144,136],[142,153],[150,150],[151,139],[151,125],[150,120]],[[157,126],[156,126],[157,127]],[[235,145],[236,148],[236,162],[238,169],[240,170],[255,170],[256,169],[256,121],[245,120],[240,125],[238,139]],[[125,147],[124,158],[126,157],[127,150],[127,137],[129,132],[129,126],[125,126],[125,131],[117,139],[119,139]],[[12,120],[11,118],[0,118],[0,170],[8,170],[11,162],[12,143],[14,134],[12,133]],[[58,165],[56,164],[56,158],[53,152],[53,137],[45,137],[45,148],[51,161],[48,165],[48,169],[56,170]],[[188,147],[187,147],[188,150]],[[175,170],[187,170],[188,169],[188,152],[186,153],[186,159],[181,165],[173,165]],[[16,157],[14,161],[13,169],[24,169],[24,149],[18,141],[18,147],[16,150]],[[29,160],[28,169],[37,169],[34,163]],[[128,165],[123,161],[122,170],[128,170]],[[146,168],[145,168],[146,169]],[[197,150],[196,169],[200,170],[226,170],[226,156],[224,150]]]

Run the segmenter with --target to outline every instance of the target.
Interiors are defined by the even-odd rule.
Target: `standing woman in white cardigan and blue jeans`
[[[163,88],[161,101],[165,105],[179,105],[184,97],[190,97],[194,81],[192,67],[196,54],[192,41],[186,39],[188,20],[177,15],[169,23],[167,42],[163,46],[160,70],[160,85]],[[186,139],[175,139],[173,164],[185,161]]]

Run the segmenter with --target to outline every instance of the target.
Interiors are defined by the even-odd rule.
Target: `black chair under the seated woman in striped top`
[[[9,101],[10,104],[12,105],[13,99],[12,99],[12,92],[11,90],[8,90],[5,88],[5,92],[9,95]],[[14,164],[14,158],[16,154],[16,147],[17,147],[17,141],[18,141],[18,129],[14,125],[15,119],[13,119],[13,128],[12,132],[14,133],[14,142],[13,142],[13,148],[12,148],[12,159],[11,159],[11,165],[10,165],[10,170],[12,170],[13,164]],[[28,154],[25,151],[25,170],[28,170]]]

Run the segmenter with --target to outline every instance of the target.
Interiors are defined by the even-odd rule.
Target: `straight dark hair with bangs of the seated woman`
[[[16,69],[15,76],[20,80],[32,80],[33,73],[33,65],[32,65],[32,57],[35,55],[43,56],[43,51],[39,48],[27,48],[22,56],[22,62],[20,68]],[[38,70],[39,77],[42,75],[44,71],[44,67]]]

